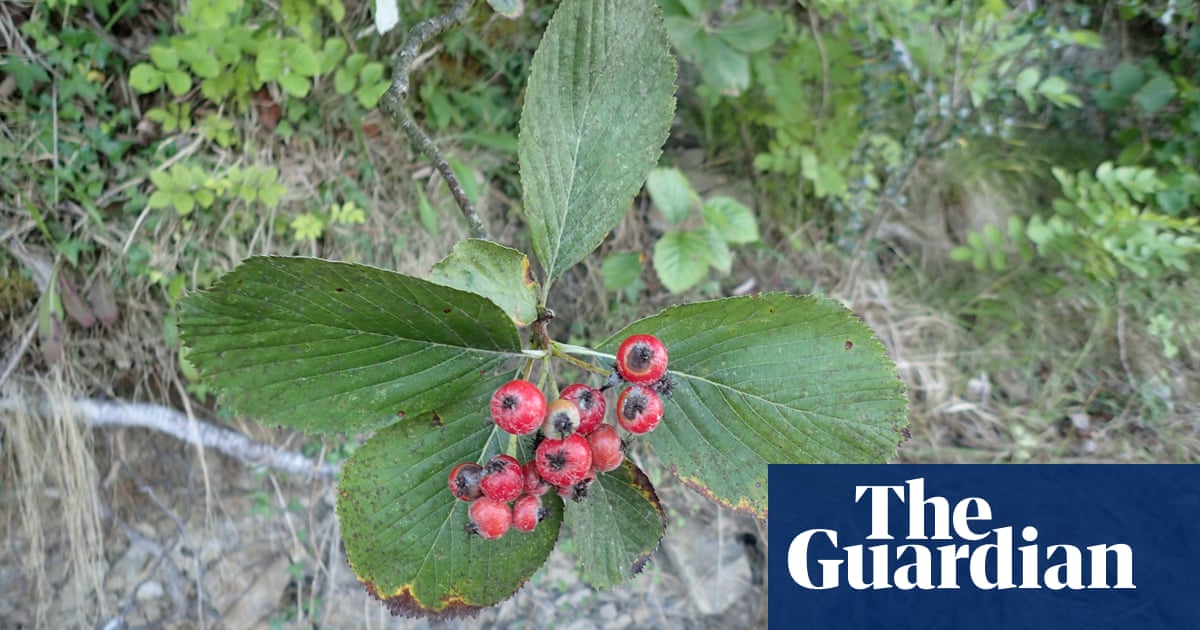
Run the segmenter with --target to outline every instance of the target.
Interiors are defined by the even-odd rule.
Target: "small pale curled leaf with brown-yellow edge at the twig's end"
[[[430,280],[492,300],[518,326],[538,318],[538,282],[529,258],[503,245],[480,239],[458,241],[450,256],[433,265]]]

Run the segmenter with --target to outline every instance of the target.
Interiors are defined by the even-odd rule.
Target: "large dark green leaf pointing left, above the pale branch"
[[[455,400],[521,340],[485,298],[365,265],[256,257],[184,300],[180,328],[235,412],[367,431]]]

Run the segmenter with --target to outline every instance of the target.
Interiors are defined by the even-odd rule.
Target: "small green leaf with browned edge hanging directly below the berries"
[[[568,506],[566,527],[583,581],[612,588],[646,566],[666,533],[666,511],[646,473],[626,458],[596,475],[588,496]]]

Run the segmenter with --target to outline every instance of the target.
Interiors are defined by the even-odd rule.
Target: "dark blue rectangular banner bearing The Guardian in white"
[[[1200,466],[769,470],[772,628],[1200,629]]]

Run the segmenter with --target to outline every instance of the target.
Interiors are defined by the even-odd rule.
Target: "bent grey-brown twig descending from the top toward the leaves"
[[[475,233],[475,236],[492,240],[484,222],[479,218],[479,212],[475,211],[470,199],[467,199],[467,194],[463,192],[458,178],[450,168],[450,163],[442,156],[442,151],[438,150],[433,140],[421,130],[420,125],[413,120],[413,115],[406,106],[409,86],[408,76],[413,72],[413,64],[416,60],[416,55],[421,52],[421,47],[446,29],[462,24],[474,4],[475,0],[458,0],[445,13],[420,22],[408,31],[408,37],[400,48],[400,54],[396,58],[396,67],[391,73],[391,86],[388,88],[388,91],[384,92],[383,98],[379,101],[379,109],[388,114],[396,125],[400,125],[400,128],[404,130],[404,133],[413,140],[418,150],[433,161],[434,168],[446,180],[450,194],[454,196],[454,200],[462,210],[463,217],[470,223],[470,229]]]

